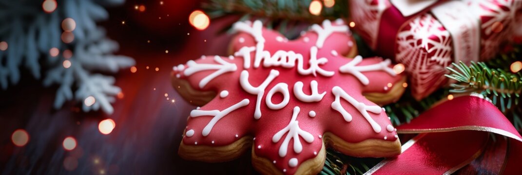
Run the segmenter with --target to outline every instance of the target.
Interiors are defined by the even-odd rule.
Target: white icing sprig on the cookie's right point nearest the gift
[[[348,62],[346,65],[341,66],[339,68],[339,71],[342,73],[353,74],[353,76],[359,79],[359,81],[361,81],[361,83],[364,85],[368,85],[370,83],[370,80],[368,80],[368,78],[366,78],[366,76],[364,76],[364,74],[362,74],[361,72],[383,70],[389,73],[391,76],[397,75],[395,71],[389,67],[389,65],[392,63],[392,61],[390,61],[389,59],[386,59],[373,65],[355,66],[359,64],[361,61],[362,57],[358,55],[355,58],[353,58],[352,61]]]

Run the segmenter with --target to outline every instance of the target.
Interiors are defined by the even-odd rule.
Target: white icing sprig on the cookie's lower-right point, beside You
[[[364,103],[358,102],[355,98],[348,95],[339,86],[335,86],[331,90],[331,92],[335,95],[335,101],[331,103],[331,108],[339,111],[339,113],[341,113],[342,117],[345,118],[345,120],[347,122],[352,121],[352,116],[350,115],[350,113],[348,113],[348,111],[346,111],[345,108],[343,108],[341,106],[341,101],[340,101],[341,97],[343,99],[345,99],[346,101],[348,101],[348,103],[350,103],[357,110],[359,110],[359,113],[361,113],[362,116],[364,116],[364,118],[370,123],[370,125],[373,128],[373,131],[375,131],[377,133],[381,132],[381,126],[379,126],[379,124],[377,124],[377,122],[375,122],[375,120],[373,120],[373,118],[370,117],[370,114],[368,114],[368,111],[370,111],[374,114],[381,114],[381,111],[383,110],[381,107],[376,106],[376,105],[368,106],[368,105],[365,105]]]

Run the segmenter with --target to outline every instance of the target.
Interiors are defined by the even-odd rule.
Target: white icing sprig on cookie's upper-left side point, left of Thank
[[[199,88],[203,88],[203,87],[205,87],[205,85],[207,85],[208,82],[210,82],[210,80],[220,76],[221,74],[223,74],[225,72],[231,72],[231,71],[238,70],[238,67],[235,64],[224,61],[219,56],[215,56],[214,61],[218,62],[219,65],[197,64],[196,61],[190,60],[187,62],[188,68],[186,68],[183,73],[185,74],[185,76],[191,76],[192,74],[199,72],[199,71],[217,70],[217,71],[209,74],[207,77],[201,79],[201,81],[199,81]]]

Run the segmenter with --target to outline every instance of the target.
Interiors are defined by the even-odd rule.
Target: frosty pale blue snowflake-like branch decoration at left
[[[94,103],[82,104],[84,111],[102,109],[111,114],[114,109],[110,103],[115,101],[114,96],[121,89],[114,86],[114,77],[93,72],[115,73],[133,66],[135,61],[113,55],[118,44],[109,40],[96,22],[109,17],[104,6],[123,2],[65,0],[57,1],[53,10],[44,11],[42,1],[0,0],[0,41],[8,44],[5,51],[0,51],[2,89],[19,82],[19,68],[23,66],[35,78],[43,78],[45,86],[58,85],[55,108],[60,108],[66,101],[83,102],[92,96]],[[66,18],[75,22],[74,39],[67,43],[62,39],[62,32],[66,31],[61,27]],[[50,54],[56,51],[62,54]],[[74,94],[73,90],[76,90]]]

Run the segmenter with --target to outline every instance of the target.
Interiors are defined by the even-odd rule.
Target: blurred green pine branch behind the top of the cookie
[[[261,19],[267,28],[278,29],[289,39],[299,36],[299,32],[312,23],[348,17],[347,1],[335,1],[335,5],[329,8],[323,6],[321,14],[317,16],[308,11],[310,2],[311,0],[210,0],[202,7],[211,18],[240,15],[240,21]],[[222,31],[227,31],[230,26]]]

